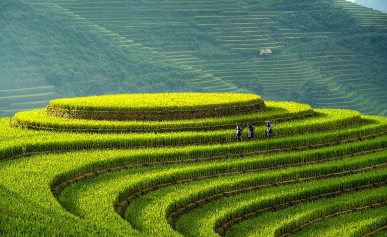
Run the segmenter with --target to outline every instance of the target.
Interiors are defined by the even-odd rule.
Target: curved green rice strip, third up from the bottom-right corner
[[[352,211],[359,207],[385,202],[383,193],[386,191],[386,187],[375,188],[301,203],[278,212],[268,212],[233,226],[226,232],[226,236],[279,236],[297,227],[303,227],[304,224],[308,224],[308,221],[318,221],[338,212]]]

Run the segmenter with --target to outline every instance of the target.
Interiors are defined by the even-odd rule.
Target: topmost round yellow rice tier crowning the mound
[[[51,107],[82,111],[173,111],[227,108],[257,104],[261,97],[237,93],[122,94],[57,99]]]

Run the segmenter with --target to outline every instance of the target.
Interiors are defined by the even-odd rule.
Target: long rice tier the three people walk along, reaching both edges
[[[188,145],[196,151],[196,156],[211,156],[222,153],[252,152],[268,149],[283,149],[297,146],[315,145],[321,143],[335,142],[344,139],[361,137],[371,133],[380,133],[387,130],[385,118],[374,116],[362,116],[364,122],[348,127],[334,130],[326,130],[300,135],[279,137],[274,139],[252,140],[243,145],[240,143],[222,143],[232,141],[235,136],[234,130],[220,130],[209,132],[183,132],[183,133],[112,133],[112,134],[84,134],[68,132],[31,131],[23,128],[11,128],[8,119],[2,119],[1,132],[4,140],[0,143],[0,157],[20,154],[21,148],[26,147],[27,152],[40,152],[47,150],[71,150],[92,148],[115,148],[115,147],[140,147],[140,146],[166,146],[166,145]],[[305,127],[314,124],[305,125]],[[15,134],[16,132],[16,134]],[[284,132],[288,132],[284,129]],[[263,134],[265,136],[266,128]],[[218,142],[218,144],[216,144]],[[204,145],[209,143],[213,145]],[[201,144],[201,145],[199,145]],[[215,148],[218,147],[218,148]],[[179,147],[174,147],[179,149]],[[169,155],[168,155],[169,156]],[[178,157],[176,157],[178,159]]]

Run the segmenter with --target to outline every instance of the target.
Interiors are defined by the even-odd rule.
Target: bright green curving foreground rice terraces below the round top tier
[[[1,118],[0,232],[385,236],[387,119],[265,103],[261,112],[144,124],[44,110]],[[251,140],[218,126],[247,121],[257,126]]]

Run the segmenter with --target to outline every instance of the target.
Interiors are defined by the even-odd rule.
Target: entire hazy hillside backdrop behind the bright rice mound
[[[14,4],[2,8],[2,34],[12,40],[2,47],[1,89],[35,91],[6,93],[25,100],[0,95],[0,116],[53,98],[173,91],[387,115],[387,15],[351,2],[7,2]],[[46,86],[55,94],[39,93]]]

